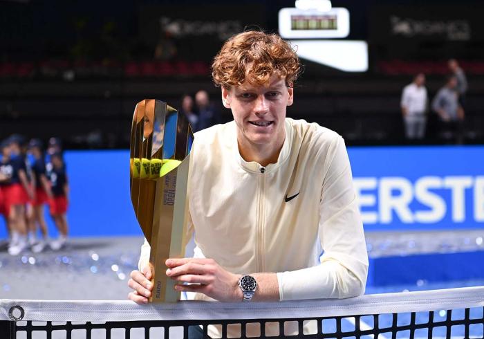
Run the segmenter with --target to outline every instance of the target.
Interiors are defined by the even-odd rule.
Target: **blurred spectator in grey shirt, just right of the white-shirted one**
[[[456,143],[463,143],[464,110],[459,103],[457,92],[458,80],[455,75],[449,75],[447,82],[435,96],[432,109],[438,113],[443,122],[443,129],[450,129],[444,133],[454,134]]]

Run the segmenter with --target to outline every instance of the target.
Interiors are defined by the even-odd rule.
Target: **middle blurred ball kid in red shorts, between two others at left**
[[[42,146],[42,142],[39,139],[32,139],[28,143],[29,153],[32,156],[33,182],[35,183],[35,199],[30,201],[32,208],[30,230],[37,232],[37,226],[39,226],[42,235],[41,239],[32,244],[33,253],[40,253],[47,244],[48,232],[46,220],[44,219],[44,205],[48,203],[49,199],[53,199],[50,183],[46,175],[46,163]]]

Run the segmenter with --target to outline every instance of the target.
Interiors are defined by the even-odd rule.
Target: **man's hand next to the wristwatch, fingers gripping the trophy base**
[[[203,293],[221,302],[243,300],[237,284],[240,275],[225,271],[214,259],[167,259],[165,264],[167,276],[180,282],[175,285],[176,291]]]

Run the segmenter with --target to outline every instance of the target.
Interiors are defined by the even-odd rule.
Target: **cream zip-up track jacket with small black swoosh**
[[[344,140],[304,120],[285,125],[279,159],[267,167],[241,158],[233,121],[195,134],[194,256],[232,273],[277,273],[280,300],[363,294],[368,256]],[[140,268],[148,262],[145,241]]]

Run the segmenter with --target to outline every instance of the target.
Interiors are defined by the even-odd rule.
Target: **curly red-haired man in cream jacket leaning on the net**
[[[192,147],[194,258],[166,262],[188,299],[364,293],[368,257],[344,141],[317,124],[286,118],[300,70],[287,42],[258,31],[235,35],[214,59],[212,76],[234,121],[199,131]],[[131,273],[129,297],[145,303],[153,288],[146,242],[139,268]],[[220,333],[209,328],[210,336]],[[278,333],[278,326],[266,327],[266,336]]]

